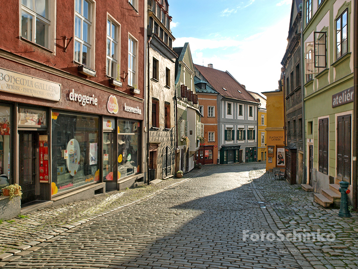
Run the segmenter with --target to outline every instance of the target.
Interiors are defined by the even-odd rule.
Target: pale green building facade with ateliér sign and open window
[[[315,201],[325,206],[332,204],[325,202],[330,198],[327,193],[337,193],[341,180],[350,182],[352,190],[353,59],[357,57],[353,5],[351,0],[304,1],[302,12],[307,184],[316,192]],[[352,191],[349,197],[352,200]]]

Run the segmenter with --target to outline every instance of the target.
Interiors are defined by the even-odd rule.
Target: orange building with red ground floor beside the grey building
[[[194,77],[195,91],[198,95],[202,132],[204,139],[200,141],[200,148],[195,159],[201,164],[217,164],[218,158],[218,131],[217,131],[217,95],[210,85]]]

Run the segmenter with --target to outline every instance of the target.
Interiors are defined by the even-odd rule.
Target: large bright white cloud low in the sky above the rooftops
[[[229,71],[249,91],[265,92],[278,88],[281,60],[287,46],[289,17],[262,32],[243,38],[198,39],[181,37],[175,46],[189,42],[195,64]]]

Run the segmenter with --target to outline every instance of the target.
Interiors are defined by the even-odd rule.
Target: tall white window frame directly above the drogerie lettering
[[[76,1],[81,1],[81,13],[76,11]],[[89,19],[85,18],[83,16],[83,2],[86,1],[89,3]],[[80,33],[80,37],[76,36],[76,17],[78,17],[81,21],[81,33]],[[83,23],[86,22],[87,24],[89,24],[89,36],[88,36],[88,41],[90,42],[86,42],[83,39]],[[74,41],[74,61],[81,64],[81,65],[85,65],[88,66],[92,69],[94,69],[94,40],[95,40],[95,1],[93,0],[75,0],[75,16],[74,16],[74,36],[75,36],[75,41]],[[79,59],[76,59],[76,44],[79,43],[80,44],[80,55],[79,55]],[[89,51],[87,52],[87,62],[84,63],[83,62],[83,47],[86,46],[88,47]]]

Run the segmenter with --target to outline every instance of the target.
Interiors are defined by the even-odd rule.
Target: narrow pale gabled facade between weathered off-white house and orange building
[[[200,147],[202,128],[197,95],[194,87],[194,65],[189,43],[173,48],[178,54],[176,60],[176,100],[177,100],[177,152],[176,170],[184,173],[192,170],[195,153]]]

